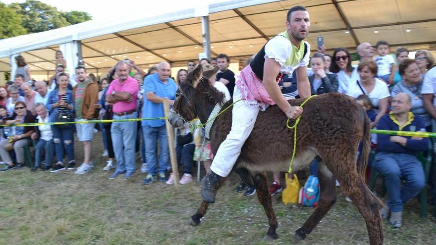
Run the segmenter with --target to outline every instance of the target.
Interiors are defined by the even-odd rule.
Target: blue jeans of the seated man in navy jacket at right
[[[403,204],[418,195],[425,186],[425,174],[422,163],[414,155],[402,153],[379,152],[374,167],[384,177],[387,205],[393,212],[403,210]],[[406,183],[401,188],[401,179]]]

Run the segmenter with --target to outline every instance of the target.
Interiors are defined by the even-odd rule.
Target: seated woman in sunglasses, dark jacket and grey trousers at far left
[[[3,124],[13,125],[22,123],[34,123],[35,117],[30,111],[26,111],[26,104],[23,101],[15,103],[15,112],[11,117],[3,120]],[[28,138],[34,132],[33,127],[10,126],[4,127],[4,134],[9,140],[0,142],[0,156],[5,162],[5,166],[0,171],[18,169],[24,166],[24,147],[28,144]],[[10,157],[10,143],[15,151],[16,163]]]

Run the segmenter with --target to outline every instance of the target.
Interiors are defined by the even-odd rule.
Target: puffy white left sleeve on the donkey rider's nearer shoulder
[[[281,66],[285,66],[291,51],[291,44],[285,37],[275,36],[265,45],[265,58],[273,58]]]

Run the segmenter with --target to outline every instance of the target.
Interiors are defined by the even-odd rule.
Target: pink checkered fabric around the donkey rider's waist
[[[268,105],[275,104],[270,98],[260,80],[247,65],[238,75],[236,86],[242,94],[242,99],[250,106],[260,106],[261,110],[265,110]]]

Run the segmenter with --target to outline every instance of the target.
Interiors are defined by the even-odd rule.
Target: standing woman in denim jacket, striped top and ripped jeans
[[[73,118],[73,97],[71,90],[68,89],[69,78],[65,73],[60,73],[57,79],[57,89],[50,92],[47,100],[47,109],[50,111],[50,122],[54,122],[56,115],[69,115]],[[57,163],[51,173],[65,170],[63,163],[64,150],[68,158],[68,169],[74,169],[74,144],[73,144],[72,124],[52,125],[54,152]]]

